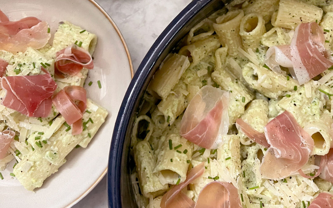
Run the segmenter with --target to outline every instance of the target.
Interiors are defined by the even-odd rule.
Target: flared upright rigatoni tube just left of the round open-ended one
[[[216,18],[216,23],[213,24],[220,43],[222,46],[228,47],[228,53],[231,56],[235,56],[237,54],[237,48],[242,46],[242,40],[239,35],[239,25],[243,17],[243,10],[229,11]]]

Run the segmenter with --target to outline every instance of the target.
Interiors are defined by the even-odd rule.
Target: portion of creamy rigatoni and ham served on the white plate
[[[51,34],[35,17],[9,21],[0,11],[0,20],[0,183],[17,179],[32,191],[108,115],[83,88],[97,36],[67,21]]]

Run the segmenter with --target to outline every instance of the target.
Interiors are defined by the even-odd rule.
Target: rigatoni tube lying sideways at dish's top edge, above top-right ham
[[[314,5],[297,0],[281,0],[276,15],[272,15],[271,23],[274,27],[295,29],[300,23],[319,22],[323,10]]]

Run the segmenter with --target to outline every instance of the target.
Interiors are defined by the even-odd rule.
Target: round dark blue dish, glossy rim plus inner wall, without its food
[[[142,97],[166,55],[202,19],[224,6],[221,0],[193,0],[166,27],[141,62],[120,107],[109,154],[109,207],[137,207],[131,183],[130,139]],[[229,1],[230,2],[230,1]],[[132,164],[133,167],[133,164]]]

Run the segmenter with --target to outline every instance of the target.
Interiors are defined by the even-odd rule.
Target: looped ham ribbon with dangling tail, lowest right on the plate
[[[78,101],[78,104],[75,102]],[[64,87],[54,98],[53,104],[69,125],[72,125],[72,135],[83,130],[82,117],[87,108],[87,92],[80,86]]]

